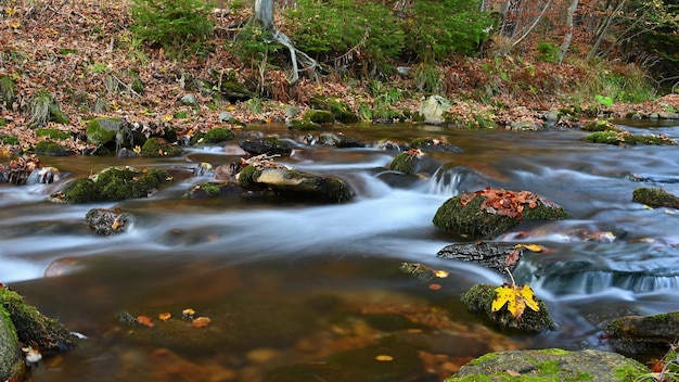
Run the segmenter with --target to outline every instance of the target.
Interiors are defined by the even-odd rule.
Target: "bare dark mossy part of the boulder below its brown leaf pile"
[[[523,220],[561,220],[569,217],[561,206],[541,198],[534,207],[528,203],[522,204],[521,217],[512,217],[483,208],[487,200],[484,195],[477,194],[464,205],[462,196],[447,200],[436,212],[433,222],[443,230],[470,239],[492,239]]]

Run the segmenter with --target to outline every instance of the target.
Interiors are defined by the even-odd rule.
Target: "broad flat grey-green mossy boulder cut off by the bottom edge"
[[[642,364],[617,353],[547,348],[489,353],[464,365],[445,382],[627,382],[649,371]]]

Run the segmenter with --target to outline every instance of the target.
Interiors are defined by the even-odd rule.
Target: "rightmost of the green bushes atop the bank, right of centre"
[[[423,62],[473,54],[490,37],[494,23],[477,0],[418,0],[402,23],[405,52]]]

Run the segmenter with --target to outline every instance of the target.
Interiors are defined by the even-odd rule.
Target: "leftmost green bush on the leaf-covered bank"
[[[213,31],[212,9],[203,0],[132,0],[131,29],[138,38],[168,52],[195,51]]]

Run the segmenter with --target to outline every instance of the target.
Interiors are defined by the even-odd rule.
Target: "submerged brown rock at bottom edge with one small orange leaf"
[[[386,358],[388,357],[388,358]],[[384,359],[388,360],[384,360]],[[335,353],[320,361],[283,366],[266,375],[268,382],[296,381],[420,381],[425,370],[412,344],[385,338],[362,348]]]

